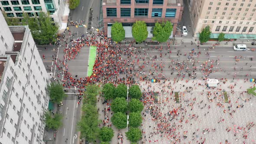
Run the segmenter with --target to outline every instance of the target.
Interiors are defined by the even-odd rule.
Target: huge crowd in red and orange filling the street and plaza
[[[203,119],[201,115],[198,115],[195,111],[192,111],[194,108],[208,111],[204,115],[213,115],[209,114],[210,109],[213,109],[213,104],[217,108],[221,108],[220,111],[225,115],[229,115],[230,118],[233,118],[233,115],[236,111],[239,111],[241,108],[245,107],[244,103],[248,103],[251,99],[248,98],[244,103],[241,103],[240,98],[236,99],[234,105],[231,101],[228,103],[228,107],[223,105],[223,96],[222,88],[211,89],[211,91],[202,91],[197,92],[196,96],[205,95],[207,100],[199,101],[195,96],[197,90],[200,87],[206,87],[206,83],[198,82],[197,71],[202,73],[202,78],[207,79],[212,72],[224,71],[223,69],[217,67],[219,65],[220,57],[217,59],[210,59],[208,57],[207,61],[201,62],[199,57],[200,55],[209,56],[209,52],[205,49],[201,51],[196,51],[191,49],[187,53],[181,53],[177,51],[177,56],[187,56],[187,60],[173,59],[174,49],[171,48],[170,43],[167,43],[167,46],[148,46],[145,48],[135,49],[135,42],[130,42],[129,45],[123,45],[115,43],[112,39],[108,38],[102,31],[95,33],[89,31],[86,35],[82,35],[79,38],[76,38],[72,35],[69,30],[66,30],[62,36],[59,36],[58,42],[59,46],[63,49],[64,57],[57,58],[57,54],[53,55],[54,63],[57,67],[56,73],[58,78],[62,78],[63,75],[63,87],[65,88],[76,88],[84,89],[88,83],[101,83],[105,84],[112,82],[114,85],[119,83],[125,83],[126,85],[131,85],[138,83],[141,88],[144,88],[144,93],[142,101],[144,103],[143,119],[146,121],[151,121],[150,125],[143,125],[143,128],[150,128],[151,131],[143,129],[143,143],[163,143],[166,139],[169,143],[182,143],[183,140],[189,139],[188,144],[205,144],[206,138],[204,137],[209,133],[217,133],[217,128],[207,127],[207,128],[197,128],[194,130],[183,129],[184,125],[194,124],[195,121],[200,123]],[[79,55],[81,49],[84,49],[85,46],[97,46],[97,55],[95,59],[95,65],[93,67],[93,74],[89,77],[78,77],[78,75],[72,75],[69,73],[69,65],[67,61],[75,59]],[[167,49],[167,52],[163,52],[163,49]],[[199,46],[198,46],[199,49]],[[159,51],[160,56],[151,56],[150,51]],[[162,59],[166,57],[170,62],[164,62]],[[235,62],[239,62],[237,59],[243,59],[243,56],[235,57]],[[163,61],[163,62],[159,62]],[[54,66],[55,66],[54,65]],[[198,66],[197,66],[198,65]],[[247,65],[247,64],[246,64]],[[145,70],[145,67],[149,68],[149,71]],[[174,75],[174,79],[167,78],[163,72],[163,69],[170,69],[171,75]],[[243,67],[240,68],[243,70]],[[227,73],[228,75],[229,73]],[[248,75],[249,76],[249,75]],[[186,78],[185,78],[186,77]],[[201,77],[201,76],[198,76]],[[151,83],[149,80],[161,79],[161,83]],[[236,74],[233,75],[233,78],[236,78]],[[222,85],[225,85],[227,79],[222,77],[219,79]],[[192,82],[193,81],[193,82]],[[248,78],[244,79],[245,82],[248,82]],[[184,84],[180,84],[183,82]],[[188,84],[190,83],[190,84]],[[180,84],[180,85],[179,85]],[[187,84],[187,85],[185,85]],[[161,86],[160,86],[161,85]],[[157,95],[167,95],[162,99],[157,99],[154,95],[156,89],[159,87],[159,93]],[[220,86],[221,87],[221,86]],[[230,94],[235,94],[233,88],[237,87],[236,83],[230,84]],[[240,88],[241,89],[241,88]],[[82,95],[83,90],[78,90],[80,95]],[[181,97],[180,104],[171,104],[171,101],[174,101],[174,92],[179,92]],[[243,96],[246,92],[240,92],[239,95]],[[185,95],[187,97],[185,97]],[[99,101],[99,99],[98,99]],[[106,115],[105,120],[102,121],[103,125],[108,125],[111,127],[109,122],[110,107],[108,101],[102,100],[102,105],[106,105],[105,110],[102,110],[104,115]],[[164,112],[165,111],[165,112]],[[222,124],[226,121],[225,118],[220,117],[215,123]],[[254,122],[246,122],[245,125],[230,125],[226,129],[227,132],[233,132],[234,138],[236,141],[242,143],[248,143],[245,140],[249,137],[250,129],[254,128]],[[255,128],[254,128],[255,130]],[[192,137],[188,136],[188,133],[192,134]],[[242,136],[240,136],[242,134]],[[160,135],[159,139],[152,140],[154,135]],[[239,137],[238,137],[239,135]],[[212,137],[212,139],[217,137]],[[243,139],[243,140],[239,140]],[[255,141],[250,141],[252,144],[255,144]],[[248,144],[250,144],[250,142]],[[219,142],[216,141],[216,144],[231,144],[230,140]]]

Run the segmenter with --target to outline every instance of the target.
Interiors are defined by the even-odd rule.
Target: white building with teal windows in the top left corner
[[[1,0],[0,10],[8,17],[22,17],[23,12],[29,16],[38,16],[40,11],[50,14],[59,29],[66,29],[69,5],[66,0]]]

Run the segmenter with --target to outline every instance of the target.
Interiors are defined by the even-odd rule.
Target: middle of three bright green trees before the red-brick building
[[[132,26],[132,36],[136,42],[141,43],[148,37],[148,30],[145,21],[136,21]]]

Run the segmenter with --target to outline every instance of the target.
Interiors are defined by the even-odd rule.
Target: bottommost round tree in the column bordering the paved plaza
[[[142,138],[142,133],[139,128],[130,128],[129,131],[125,132],[127,139],[131,142],[137,142]]]

